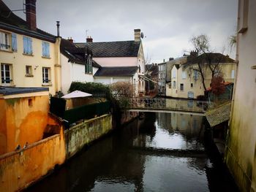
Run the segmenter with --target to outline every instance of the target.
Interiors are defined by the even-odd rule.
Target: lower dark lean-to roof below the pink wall
[[[96,77],[132,77],[138,70],[138,66],[113,66],[102,67],[94,76]]]

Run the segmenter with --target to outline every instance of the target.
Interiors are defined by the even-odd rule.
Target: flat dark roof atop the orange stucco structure
[[[2,87],[0,86],[0,95],[15,95],[20,93],[35,93],[49,91],[49,88],[14,88],[14,87]]]

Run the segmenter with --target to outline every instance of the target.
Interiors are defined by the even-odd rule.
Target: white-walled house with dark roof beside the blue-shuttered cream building
[[[88,47],[77,47],[73,40],[61,39],[61,92],[67,94],[71,82],[94,82],[94,74],[101,66],[92,59]]]

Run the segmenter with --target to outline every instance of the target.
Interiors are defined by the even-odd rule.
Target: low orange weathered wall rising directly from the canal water
[[[62,129],[61,129],[62,130]],[[0,191],[19,191],[65,161],[63,131],[0,156]]]

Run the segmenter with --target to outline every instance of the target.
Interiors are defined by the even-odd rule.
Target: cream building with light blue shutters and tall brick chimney
[[[3,86],[61,90],[60,37],[37,28],[36,0],[26,0],[26,20],[0,0],[0,63]]]

